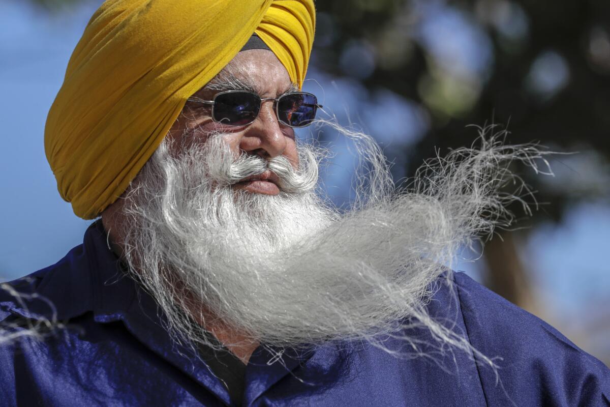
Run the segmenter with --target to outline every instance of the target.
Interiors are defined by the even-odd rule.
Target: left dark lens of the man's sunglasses
[[[214,98],[213,119],[218,123],[243,126],[256,119],[260,98],[249,92],[218,93]]]

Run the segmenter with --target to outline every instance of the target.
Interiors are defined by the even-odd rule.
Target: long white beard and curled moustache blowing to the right
[[[374,140],[339,129],[357,143],[368,175],[344,213],[316,193],[320,154],[308,145],[298,170],[282,158],[236,158],[221,135],[177,154],[163,142],[145,165],[126,195],[124,254],[176,340],[215,346],[193,323],[213,315],[276,347],[350,339],[383,346],[375,338],[408,320],[440,344],[472,351],[428,315],[431,283],[473,237],[511,222],[504,208],[518,198],[498,192],[514,179],[508,164],[536,168],[541,153],[482,135],[478,149],[426,162],[399,191]],[[281,176],[278,196],[231,188],[267,166]]]

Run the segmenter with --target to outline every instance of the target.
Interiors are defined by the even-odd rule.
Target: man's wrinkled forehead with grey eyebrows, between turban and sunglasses
[[[288,71],[273,52],[264,49],[241,51],[196,95],[210,91],[248,90],[261,96],[295,92]]]

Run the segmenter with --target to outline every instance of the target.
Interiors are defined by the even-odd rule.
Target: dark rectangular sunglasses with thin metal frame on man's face
[[[318,99],[312,93],[290,92],[278,98],[261,98],[247,90],[227,90],[217,93],[212,100],[188,98],[190,102],[212,105],[212,120],[230,126],[245,126],[256,120],[263,101],[272,100],[273,110],[280,123],[290,127],[309,126],[315,119]]]

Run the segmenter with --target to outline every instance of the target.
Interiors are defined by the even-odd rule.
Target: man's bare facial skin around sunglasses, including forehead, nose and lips
[[[193,96],[212,100],[223,90],[249,90],[261,98],[278,98],[295,87],[273,52],[252,49],[239,52],[215,79]],[[235,156],[243,152],[265,159],[284,156],[296,168],[298,154],[294,130],[278,121],[273,106],[273,100],[263,101],[253,123],[230,126],[212,120],[212,105],[188,102],[168,137],[178,142],[177,145],[184,146],[191,141],[186,138],[193,137],[193,134],[195,138],[207,139],[210,134],[221,132]],[[232,188],[266,195],[279,193],[278,179],[269,170],[254,179],[237,182]]]

